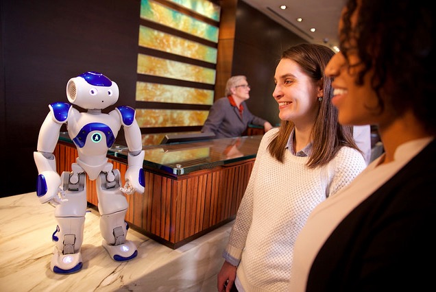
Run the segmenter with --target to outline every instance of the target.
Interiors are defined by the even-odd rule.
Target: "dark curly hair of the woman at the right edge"
[[[348,0],[341,16],[340,49],[356,50],[363,66],[356,79],[373,71],[371,86],[380,111],[401,115],[412,109],[429,132],[436,133],[434,110],[435,9],[428,1]],[[357,13],[357,23],[351,18]]]

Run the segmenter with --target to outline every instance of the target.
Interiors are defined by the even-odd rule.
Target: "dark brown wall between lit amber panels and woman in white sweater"
[[[237,10],[232,75],[247,76],[250,112],[275,125],[280,123],[272,97],[276,65],[284,49],[306,41],[243,1]]]

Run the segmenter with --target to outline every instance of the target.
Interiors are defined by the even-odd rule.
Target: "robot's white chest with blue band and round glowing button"
[[[108,114],[82,112],[67,123],[68,134],[77,151],[86,156],[106,156],[120,128],[121,123]]]

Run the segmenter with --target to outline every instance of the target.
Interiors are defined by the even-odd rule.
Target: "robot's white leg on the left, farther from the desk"
[[[82,269],[84,224],[86,214],[86,173],[80,174],[76,184],[71,184],[71,173],[61,175],[66,202],[56,206],[58,221],[52,239],[56,242],[50,268],[55,273],[75,273]]]

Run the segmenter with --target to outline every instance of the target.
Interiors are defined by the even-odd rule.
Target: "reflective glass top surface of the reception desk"
[[[206,141],[143,145],[144,165],[175,175],[255,158],[262,135],[219,138]],[[60,141],[72,143],[68,133],[60,133]],[[115,141],[117,143],[117,141]],[[127,160],[129,149],[114,144],[108,155]]]

